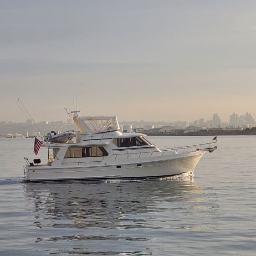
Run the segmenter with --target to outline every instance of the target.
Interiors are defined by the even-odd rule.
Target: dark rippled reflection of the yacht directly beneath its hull
[[[165,179],[165,180],[163,180]],[[126,215],[163,210],[163,202],[183,201],[196,192],[193,179],[103,180],[73,183],[25,184],[26,196],[34,200],[30,210],[47,214],[47,219],[74,220],[65,226],[87,228],[123,227]],[[160,202],[160,204],[159,204]],[[173,208],[166,210],[179,210]],[[184,205],[182,206],[184,207]],[[134,220],[133,220],[134,221]],[[54,227],[58,225],[53,224]]]

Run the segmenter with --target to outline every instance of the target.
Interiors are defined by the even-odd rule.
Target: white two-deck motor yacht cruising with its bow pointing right
[[[214,142],[159,149],[138,132],[121,132],[116,116],[79,116],[72,113],[79,129],[63,143],[42,138],[48,162],[27,158],[24,182],[78,179],[133,179],[167,177],[191,172]],[[65,133],[67,135],[67,133]],[[67,138],[67,136],[65,137]]]

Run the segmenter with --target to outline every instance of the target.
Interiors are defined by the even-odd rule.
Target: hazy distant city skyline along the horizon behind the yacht
[[[35,121],[35,120],[34,120]],[[232,113],[230,115],[230,122],[222,122],[219,113],[214,113],[213,118],[210,120],[205,120],[205,118],[200,118],[199,120],[194,120],[193,122],[188,121],[145,121],[145,120],[131,120],[131,121],[119,121],[121,131],[127,130],[129,132],[132,129],[143,129],[143,131],[151,132],[174,132],[174,134],[188,133],[191,131],[199,130],[209,130],[209,129],[224,129],[225,131],[234,130],[247,130],[248,128],[254,129],[256,127],[256,122],[250,113],[245,113],[245,115],[238,115],[237,113]],[[36,134],[47,134],[50,131],[56,131],[58,133],[76,130],[77,127],[72,119],[66,119],[66,121],[56,120],[56,121],[41,121],[36,124],[31,119],[27,119],[26,123],[12,123],[0,121],[0,137],[3,136],[35,136]],[[231,134],[233,134],[231,132]],[[206,134],[205,134],[206,135]]]

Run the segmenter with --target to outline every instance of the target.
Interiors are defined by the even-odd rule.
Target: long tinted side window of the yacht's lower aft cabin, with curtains
[[[64,158],[107,156],[103,147],[69,147]]]

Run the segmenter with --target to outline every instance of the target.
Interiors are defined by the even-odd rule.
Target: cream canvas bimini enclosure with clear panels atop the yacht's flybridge
[[[107,133],[120,130],[116,116],[74,116],[73,120],[82,133]]]

